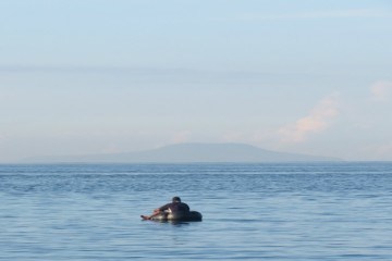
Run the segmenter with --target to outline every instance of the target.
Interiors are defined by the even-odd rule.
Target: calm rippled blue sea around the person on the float
[[[392,163],[0,165],[0,260],[191,259],[392,260]]]

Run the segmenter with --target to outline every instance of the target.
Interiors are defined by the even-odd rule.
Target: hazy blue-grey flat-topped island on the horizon
[[[125,153],[39,157],[34,163],[229,163],[229,162],[341,161],[318,157],[265,150],[245,144],[176,144],[158,149]]]

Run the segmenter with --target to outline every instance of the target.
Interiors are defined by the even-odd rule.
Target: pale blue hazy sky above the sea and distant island
[[[0,162],[180,142],[392,161],[392,1],[1,0]]]

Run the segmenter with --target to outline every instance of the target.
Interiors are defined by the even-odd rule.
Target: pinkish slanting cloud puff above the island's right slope
[[[301,142],[308,135],[320,133],[330,125],[330,120],[339,115],[339,95],[334,94],[322,99],[307,116],[279,129],[284,142]]]

